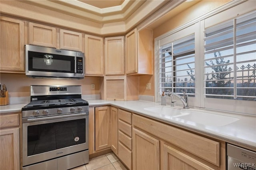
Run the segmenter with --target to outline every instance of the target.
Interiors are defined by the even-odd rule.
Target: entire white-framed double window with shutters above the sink
[[[155,51],[156,101],[183,90],[189,106],[256,115],[254,2],[233,1],[181,25],[156,38]]]

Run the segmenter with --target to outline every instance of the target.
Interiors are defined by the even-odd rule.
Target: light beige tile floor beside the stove
[[[113,152],[89,160],[89,163],[71,170],[127,170]]]

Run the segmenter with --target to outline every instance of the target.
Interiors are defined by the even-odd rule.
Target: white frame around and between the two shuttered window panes
[[[252,11],[256,11],[255,7],[252,6],[252,1],[245,2],[229,2],[221,8],[200,16],[195,20],[192,20],[166,34],[163,34],[155,38],[155,101],[160,102],[161,96],[158,93],[158,61],[159,61],[159,47],[160,42],[167,43],[172,42],[173,34],[184,34],[184,30],[190,26],[197,26],[197,30],[194,30],[195,34],[195,76],[196,76],[196,88],[195,97],[189,97],[189,105],[199,108],[205,108],[209,110],[227,111],[232,113],[244,113],[249,115],[256,115],[255,101],[243,101],[234,99],[216,99],[216,98],[206,98],[204,96],[204,31],[211,26],[223,23],[225,21],[234,19],[237,15],[244,15]],[[237,14],[239,11],[239,14]],[[184,34],[183,37],[185,37]],[[199,65],[199,66],[198,66]],[[170,99],[167,97],[167,103],[170,103]],[[177,104],[182,105],[178,99],[176,99]],[[223,104],[225,103],[225,104]]]

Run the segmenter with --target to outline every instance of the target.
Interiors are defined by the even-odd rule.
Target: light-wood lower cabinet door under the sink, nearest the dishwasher
[[[162,170],[214,170],[181,150],[163,144]]]

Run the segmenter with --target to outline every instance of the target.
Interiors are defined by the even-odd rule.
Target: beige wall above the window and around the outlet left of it
[[[178,14],[172,16],[172,11],[166,16],[170,15],[170,18],[166,20],[166,16],[164,16],[166,22],[163,24],[156,26],[153,29],[153,54],[154,54],[154,39],[167,33],[183,24],[186,24],[195,18],[198,18],[208,12],[230,2],[230,0],[202,0],[198,3],[194,4],[190,8],[183,10],[182,12],[177,12]],[[186,3],[186,2],[184,2]],[[179,6],[174,9],[179,10]],[[176,13],[176,12],[175,12]],[[154,61],[154,57],[153,57]],[[151,89],[146,90],[146,83],[151,83]],[[154,75],[144,75],[139,78],[139,94],[140,95],[155,95],[155,87],[154,87]]]

